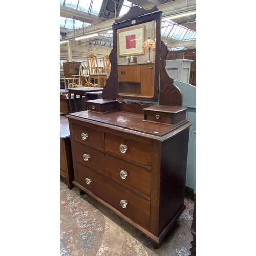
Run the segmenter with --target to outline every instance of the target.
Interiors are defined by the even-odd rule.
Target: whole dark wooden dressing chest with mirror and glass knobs
[[[185,209],[191,126],[181,91],[165,68],[168,49],[161,41],[161,17],[157,7],[134,6],[114,22],[111,72],[102,99],[87,100],[87,110],[67,115],[73,184],[138,228],[155,249]],[[136,33],[156,41],[148,90],[142,90],[146,81],[141,73],[147,55],[137,55],[139,65],[134,65],[139,84],[123,81],[118,73],[124,55],[136,54],[135,49],[125,48],[121,37],[130,40]]]

